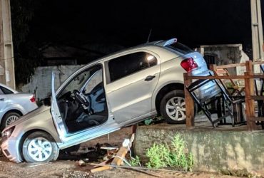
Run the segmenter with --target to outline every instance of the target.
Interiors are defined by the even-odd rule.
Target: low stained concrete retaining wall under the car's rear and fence
[[[176,127],[143,126],[136,130],[134,150],[146,161],[146,149],[156,143],[170,143],[176,132],[183,135],[193,154],[194,171],[222,172],[247,169],[264,175],[264,132],[185,130]]]

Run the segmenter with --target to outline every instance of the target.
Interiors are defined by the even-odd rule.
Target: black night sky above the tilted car
[[[29,38],[134,46],[146,42],[151,28],[151,41],[176,37],[191,47],[250,45],[250,0],[41,1]]]

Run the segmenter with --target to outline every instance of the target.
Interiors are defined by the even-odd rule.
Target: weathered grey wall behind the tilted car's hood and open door
[[[48,66],[36,68],[31,81],[26,85],[21,86],[19,90],[24,93],[34,93],[34,90],[36,90],[36,98],[41,100],[51,93],[52,71],[56,74],[55,87],[59,88],[64,80],[78,70],[78,68],[81,68],[81,66]]]

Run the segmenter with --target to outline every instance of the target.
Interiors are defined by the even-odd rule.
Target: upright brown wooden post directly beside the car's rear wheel
[[[192,80],[188,78],[188,73],[183,73],[184,78],[184,95],[186,101],[186,127],[194,127],[194,103],[190,93],[186,90],[186,86],[191,85]]]

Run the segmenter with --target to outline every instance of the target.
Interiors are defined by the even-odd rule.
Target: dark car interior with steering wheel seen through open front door
[[[76,84],[71,90],[57,97],[61,117],[69,133],[101,125],[108,118],[101,68],[85,71],[84,78],[82,75],[70,81],[68,85]]]

